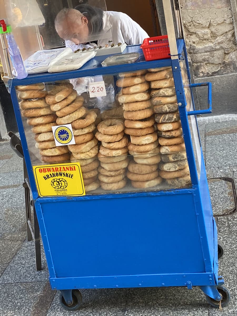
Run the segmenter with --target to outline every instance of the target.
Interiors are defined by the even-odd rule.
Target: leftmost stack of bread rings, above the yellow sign
[[[67,161],[70,158],[67,147],[56,147],[52,126],[56,126],[57,116],[46,103],[47,92],[43,83],[29,86],[17,86],[21,114],[27,118],[27,124],[33,126],[36,148],[40,149],[44,162]]]

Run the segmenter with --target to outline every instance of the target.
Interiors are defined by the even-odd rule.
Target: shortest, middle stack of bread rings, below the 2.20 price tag
[[[124,122],[121,119],[107,119],[97,126],[95,137],[101,141],[99,180],[104,190],[119,190],[125,187],[125,170],[128,138],[124,136]]]

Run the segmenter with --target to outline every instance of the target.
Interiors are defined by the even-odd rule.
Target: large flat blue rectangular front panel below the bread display
[[[191,193],[41,208],[57,278],[205,272]]]

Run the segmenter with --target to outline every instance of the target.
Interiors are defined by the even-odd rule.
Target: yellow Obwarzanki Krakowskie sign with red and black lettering
[[[41,197],[85,195],[80,163],[34,166],[33,170]]]

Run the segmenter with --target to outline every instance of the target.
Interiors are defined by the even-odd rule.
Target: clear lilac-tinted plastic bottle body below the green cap
[[[8,42],[8,52],[14,67],[14,70],[12,71],[13,75],[17,79],[23,79],[28,76],[24,62],[21,58],[21,53],[19,50],[19,47],[16,44],[16,41],[14,39],[14,36],[12,33],[6,33],[6,39]]]

